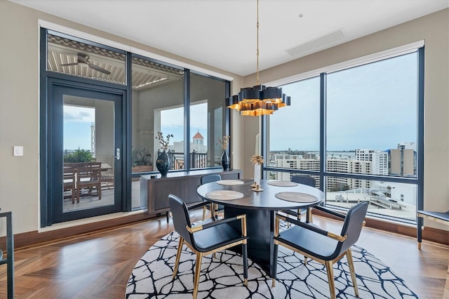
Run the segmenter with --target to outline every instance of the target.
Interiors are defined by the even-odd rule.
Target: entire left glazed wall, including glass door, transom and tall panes
[[[41,225],[140,208],[159,132],[170,171],[215,166],[228,94],[229,81],[173,61],[41,29]]]

